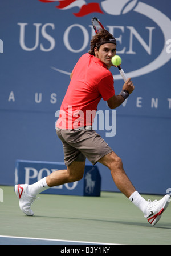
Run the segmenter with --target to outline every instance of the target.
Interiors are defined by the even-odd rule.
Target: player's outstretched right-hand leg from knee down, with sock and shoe
[[[113,181],[118,189],[129,198],[129,201],[143,211],[144,217],[154,226],[160,220],[161,214],[169,205],[169,195],[165,195],[158,201],[146,201],[132,185],[123,169],[121,159],[114,152],[105,155],[99,159],[99,162],[111,170]]]

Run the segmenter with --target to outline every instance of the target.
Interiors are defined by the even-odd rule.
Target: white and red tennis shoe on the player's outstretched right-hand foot
[[[161,200],[150,201],[147,206],[149,210],[149,215],[144,216],[148,222],[154,226],[160,220],[161,214],[166,210],[170,202],[170,196],[165,195]]]

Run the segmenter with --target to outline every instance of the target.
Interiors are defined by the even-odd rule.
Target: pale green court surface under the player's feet
[[[154,227],[123,194],[111,192],[101,192],[100,197],[40,194],[31,207],[35,215],[28,217],[19,209],[14,187],[0,188],[0,244],[6,237],[56,239],[59,244],[171,244],[171,203]],[[143,197],[152,201],[162,198]]]

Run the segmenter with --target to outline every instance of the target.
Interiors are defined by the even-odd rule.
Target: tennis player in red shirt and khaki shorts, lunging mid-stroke
[[[107,101],[110,109],[115,109],[135,89],[131,78],[128,78],[120,94],[115,94],[113,75],[109,71],[114,55],[116,39],[107,30],[101,30],[92,38],[89,53],[80,57],[76,63],[56,122],[56,133],[63,143],[67,169],[54,171],[32,185],[15,185],[19,206],[26,215],[34,214],[31,204],[40,192],[82,179],[86,158],[92,165],[100,162],[111,170],[118,189],[143,212],[150,224],[155,225],[168,206],[169,195],[154,202],[141,197],[127,177],[121,158],[92,130],[93,118],[101,98]]]

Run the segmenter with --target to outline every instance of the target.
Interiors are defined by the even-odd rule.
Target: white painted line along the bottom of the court
[[[99,243],[99,242],[88,242],[88,241],[74,241],[74,240],[62,240],[62,239],[49,239],[49,238],[35,238],[35,237],[14,237],[10,235],[0,235],[0,238],[18,238],[18,239],[32,239],[32,240],[43,240],[43,241],[56,241],[56,242],[70,242],[70,243],[88,243],[92,245],[119,245],[119,243]]]

